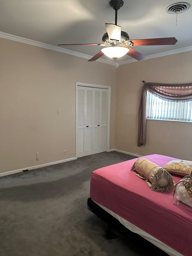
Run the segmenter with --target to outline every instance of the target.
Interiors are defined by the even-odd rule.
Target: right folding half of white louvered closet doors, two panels
[[[93,154],[107,150],[107,92],[94,88]]]

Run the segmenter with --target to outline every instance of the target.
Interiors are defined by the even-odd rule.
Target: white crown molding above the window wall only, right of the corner
[[[163,52],[163,53],[151,54],[151,55],[148,55],[146,59],[153,59],[153,58],[163,57],[163,56],[172,55],[172,54],[176,54],[176,53],[184,53],[184,52],[189,52],[189,51],[192,51],[192,46],[179,48],[176,50],[170,50],[170,51]],[[144,60],[146,60],[146,59],[144,59]],[[129,59],[129,60],[125,60],[122,62],[118,62],[118,64],[123,65],[123,64],[131,63],[131,62],[136,62],[136,61],[137,61],[136,59]]]

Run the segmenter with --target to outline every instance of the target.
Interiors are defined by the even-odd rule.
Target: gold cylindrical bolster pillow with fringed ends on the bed
[[[131,171],[136,171],[136,175],[145,179],[149,187],[154,191],[170,192],[171,188],[174,187],[171,174],[146,158],[137,159]]]

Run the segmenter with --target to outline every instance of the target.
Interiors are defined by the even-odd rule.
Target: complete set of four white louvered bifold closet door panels
[[[77,157],[107,151],[108,90],[77,87]]]

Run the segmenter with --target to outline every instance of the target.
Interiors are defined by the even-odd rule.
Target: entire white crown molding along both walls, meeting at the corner
[[[20,42],[20,43],[24,43],[24,44],[31,44],[31,45],[34,45],[34,46],[38,46],[38,47],[42,47],[42,48],[45,48],[45,49],[57,51],[57,52],[60,52],[60,53],[70,54],[70,55],[81,57],[81,58],[84,58],[84,59],[91,59],[93,57],[91,55],[87,55],[87,54],[84,54],[84,53],[79,53],[79,52],[67,50],[67,49],[64,49],[64,48],[61,48],[61,47],[58,47],[58,46],[54,46],[54,45],[51,45],[51,44],[45,44],[45,43],[38,42],[38,41],[35,41],[35,40],[32,40],[32,39],[7,34],[7,33],[4,33],[4,32],[1,32],[1,31],[0,31],[0,37],[5,38],[5,39],[10,39],[10,40],[13,40],[13,41],[17,41],[17,42]],[[176,54],[176,53],[188,52],[188,51],[192,51],[192,46],[179,48],[179,49],[176,49],[176,50],[170,50],[170,51],[163,52],[163,53],[155,53],[155,54],[152,54],[152,55],[148,55],[146,59],[153,59],[153,58],[163,57],[163,56],[172,55],[172,54]],[[124,64],[131,63],[131,62],[136,62],[137,60],[136,59],[129,59],[129,60],[125,60],[125,61],[122,61],[122,62],[114,62],[114,61],[105,60],[105,59],[100,58],[100,59],[97,59],[96,61],[103,62],[103,63],[106,63],[106,64],[110,64],[110,65],[113,65],[116,68],[118,68],[119,65],[124,65]]]

